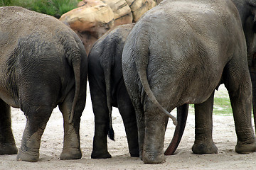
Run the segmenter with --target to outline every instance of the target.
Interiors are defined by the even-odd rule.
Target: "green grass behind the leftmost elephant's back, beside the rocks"
[[[32,11],[60,18],[78,6],[80,0],[0,0],[0,6],[22,6]]]

